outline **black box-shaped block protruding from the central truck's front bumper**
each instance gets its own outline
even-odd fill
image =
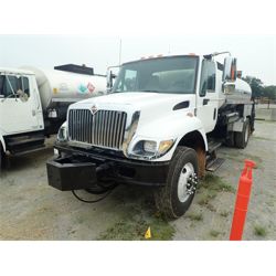
[[[61,191],[83,190],[97,182],[96,164],[57,158],[46,162],[49,184]]]

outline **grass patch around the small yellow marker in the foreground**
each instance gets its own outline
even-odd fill
[[[150,226],[151,238],[156,241],[172,240],[174,229],[161,217],[137,219],[136,216],[116,222],[99,235],[105,241],[142,241]]]

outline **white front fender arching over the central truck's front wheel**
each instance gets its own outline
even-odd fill
[[[185,113],[183,116],[173,114],[172,116],[162,117],[161,119],[149,121],[141,127],[138,126],[136,135],[129,145],[132,148],[140,139],[149,140],[167,140],[174,139],[173,147],[162,157],[151,159],[151,161],[169,161],[171,160],[176,148],[180,140],[192,131],[199,131],[208,150],[208,140],[201,120],[195,116],[189,116]]]

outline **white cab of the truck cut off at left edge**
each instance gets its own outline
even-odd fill
[[[33,147],[41,146],[44,141],[43,129],[42,106],[34,74],[24,70],[0,68],[1,152],[22,152],[24,149],[19,145],[30,134],[32,140],[28,142],[33,144]]]

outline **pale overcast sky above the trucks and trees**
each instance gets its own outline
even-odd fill
[[[33,65],[51,68],[66,63],[93,66],[105,74],[108,65],[157,54],[206,54],[230,51],[243,75],[276,85],[276,36],[273,35],[0,35],[0,66]]]

